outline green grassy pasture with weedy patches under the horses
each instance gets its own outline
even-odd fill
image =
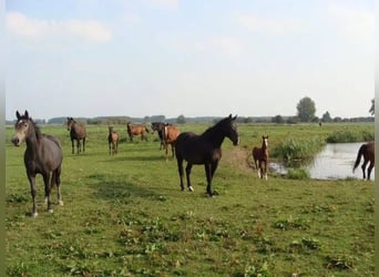
[[[165,162],[156,134],[131,143],[126,127],[114,126],[122,142],[110,156],[107,127],[89,126],[85,153],[76,155],[63,126],[41,129],[63,145],[64,206],[47,213],[38,176],[39,216],[27,216],[25,145],[12,146],[7,127],[8,276],[373,276],[373,182],[273,173],[266,182],[249,166],[264,134],[274,151],[289,138],[373,133],[373,124],[239,124],[240,145],[223,144],[213,198],[203,166],[193,167],[195,192],[181,192],[176,162]]]

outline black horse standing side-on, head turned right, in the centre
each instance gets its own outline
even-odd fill
[[[190,175],[191,168],[194,164],[204,164],[205,175],[207,181],[206,194],[213,196],[212,192],[212,178],[217,168],[218,162],[222,157],[221,145],[225,137],[228,137],[234,145],[239,143],[239,136],[237,133],[237,126],[235,124],[235,117],[232,114],[214,126],[208,127],[203,134],[197,135],[192,132],[181,133],[175,141],[175,155],[177,161],[177,170],[181,178],[181,188],[184,191],[183,185],[183,161],[187,161],[185,167],[187,187],[193,192],[191,185]]]

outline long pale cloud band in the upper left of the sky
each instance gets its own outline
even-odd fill
[[[111,31],[96,20],[44,20],[28,18],[21,12],[8,12],[6,20],[8,32],[13,35],[69,35],[80,37],[93,42],[106,42],[112,38]]]

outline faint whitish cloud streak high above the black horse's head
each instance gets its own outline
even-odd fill
[[[300,29],[300,22],[295,19],[274,19],[257,14],[237,14],[237,22],[250,31],[270,34],[285,34]]]

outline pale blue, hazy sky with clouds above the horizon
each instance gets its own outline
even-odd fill
[[[6,117],[369,116],[373,1],[6,1]]]

